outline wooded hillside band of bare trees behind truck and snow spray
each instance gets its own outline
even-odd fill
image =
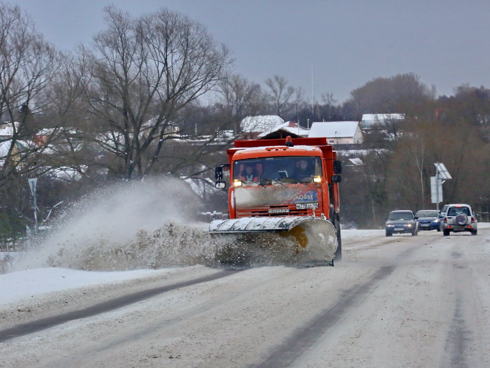
[[[395,206],[430,206],[433,163],[453,175],[445,201],[490,203],[490,93],[458,86],[436,97],[411,73],[375,78],[342,103],[325,91],[309,100],[282,76],[263,83],[232,72],[226,45],[165,8],[135,17],[113,6],[105,28],[72,53],[57,50],[18,6],[0,3],[0,242],[32,226],[27,179],[38,177],[41,222],[113,180],[173,175],[202,180],[210,203],[213,167],[247,116],[276,114],[307,127],[405,114],[365,135],[360,167],[346,167],[343,222],[379,226]],[[348,159],[346,154],[344,159]],[[60,204],[61,203],[61,204]],[[487,208],[487,207],[486,207]]]

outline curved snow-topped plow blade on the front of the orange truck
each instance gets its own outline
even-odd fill
[[[332,264],[337,249],[335,227],[321,217],[246,217],[214,220],[209,234],[223,241],[217,258],[240,262],[257,252],[273,251],[276,259],[297,264]],[[238,258],[238,259],[235,259]]]

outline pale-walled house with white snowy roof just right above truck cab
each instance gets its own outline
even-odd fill
[[[328,144],[362,143],[362,131],[355,121],[314,122],[308,137],[326,137]]]

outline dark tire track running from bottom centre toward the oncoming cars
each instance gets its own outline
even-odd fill
[[[420,245],[410,247],[402,251],[397,258],[407,258],[419,247]],[[249,367],[284,368],[291,366],[295,360],[308,348],[313,346],[316,341],[328,331],[328,329],[333,327],[357,301],[371,292],[371,290],[379,282],[387,278],[395,268],[395,266],[380,267],[369,280],[354,285],[344,291],[333,306],[318,314],[303,328],[296,330],[261,363],[250,365]]]

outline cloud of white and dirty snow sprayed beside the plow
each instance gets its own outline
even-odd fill
[[[199,199],[181,180],[153,178],[92,193],[64,214],[12,270],[121,270],[200,262],[207,226],[191,224]]]

